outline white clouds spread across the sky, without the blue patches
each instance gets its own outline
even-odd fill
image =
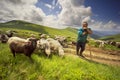
[[[105,24],[91,19],[91,7],[85,7],[84,0],[53,0],[52,5],[45,4],[50,9],[58,6],[61,9],[56,11],[58,15],[45,15],[41,8],[35,6],[37,2],[38,0],[0,0],[0,22],[25,20],[54,28],[65,28],[78,27],[82,21],[88,21],[92,29],[119,29],[118,24],[113,21]]]

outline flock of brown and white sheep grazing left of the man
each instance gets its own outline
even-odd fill
[[[9,34],[9,35],[8,35]],[[7,43],[11,50],[11,53],[15,57],[15,54],[23,53],[24,55],[31,58],[31,54],[36,51],[41,51],[48,57],[52,53],[58,53],[59,56],[64,56],[64,42],[66,41],[63,37],[46,38],[46,34],[41,34],[40,39],[35,38],[34,35],[24,39],[13,36],[13,31],[9,31],[6,34],[0,34],[0,41]]]

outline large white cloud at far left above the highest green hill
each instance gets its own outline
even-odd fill
[[[45,14],[40,8],[35,6],[35,3],[37,3],[37,0],[1,0],[1,22],[17,19],[42,23]]]

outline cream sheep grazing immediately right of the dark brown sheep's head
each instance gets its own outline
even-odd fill
[[[51,54],[50,52],[50,44],[49,42],[41,38],[40,40],[37,41],[37,50],[41,50],[43,53],[45,53],[48,57]]]

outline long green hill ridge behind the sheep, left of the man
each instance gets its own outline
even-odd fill
[[[55,28],[32,24],[32,23],[20,21],[20,20],[13,20],[6,23],[0,23],[0,29],[1,30],[8,30],[8,29],[29,30],[37,33],[45,33],[49,35],[61,35],[61,36],[72,37],[72,38],[76,38],[76,32],[77,32],[75,29],[72,29],[72,28],[55,29]]]

